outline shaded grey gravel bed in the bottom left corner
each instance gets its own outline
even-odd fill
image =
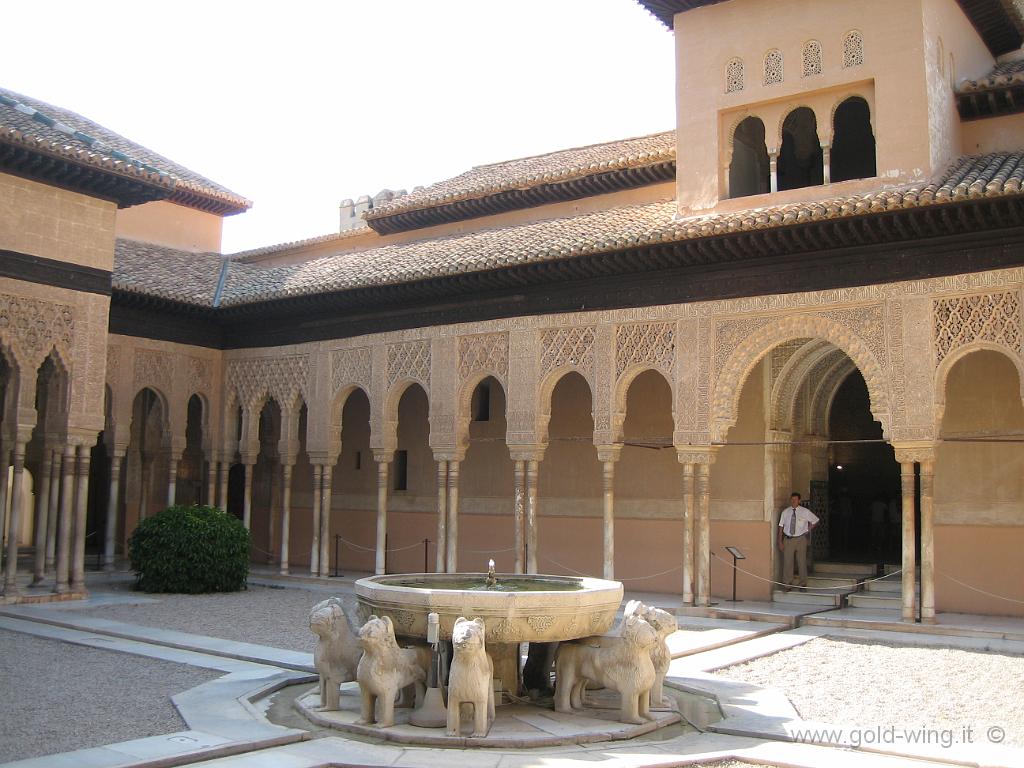
[[[171,696],[218,676],[0,630],[0,763],[184,730]]]

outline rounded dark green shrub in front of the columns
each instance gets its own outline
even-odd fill
[[[169,507],[147,517],[128,553],[144,592],[236,592],[249,577],[249,531],[214,507]]]

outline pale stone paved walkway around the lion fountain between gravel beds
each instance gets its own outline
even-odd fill
[[[255,573],[254,583],[275,586],[296,584],[295,579],[274,579]],[[347,582],[347,583],[346,583]],[[91,580],[90,603],[135,599],[104,595],[102,578]],[[351,580],[303,580],[303,587],[333,594],[351,590]],[[634,595],[630,595],[634,597]],[[672,607],[672,596],[652,600]],[[972,617],[949,626],[966,633]],[[239,643],[152,627],[139,627],[78,614],[69,604],[22,605],[0,608],[0,628],[108,650],[193,665],[224,673],[215,681],[173,697],[189,730],[145,739],[109,744],[94,750],[46,756],[7,764],[18,768],[155,768],[185,763],[217,768],[287,766],[313,768],[325,764],[362,766],[415,766],[429,768],[641,768],[684,765],[716,760],[740,760],[767,765],[889,768],[890,766],[1024,765],[1024,751],[991,749],[970,754],[956,750],[903,750],[881,754],[866,748],[851,749],[842,738],[822,736],[825,743],[804,743],[808,728],[826,733],[828,724],[800,720],[780,692],[710,675],[711,670],[738,664],[809,642],[815,637],[858,637],[908,642],[916,645],[953,645],[1024,652],[1024,638],[1016,628],[998,620],[978,617],[982,631],[967,634],[923,634],[813,626],[787,630],[786,623],[716,620],[680,615],[681,631],[670,640],[674,660],[669,685],[717,701],[702,705],[705,712],[684,715],[705,729],[685,729],[671,737],[641,737],[626,742],[566,744],[529,751],[438,750],[393,743],[368,742],[343,735],[323,734],[271,723],[254,701],[285,686],[311,682],[311,654],[250,643]],[[1001,636],[995,637],[996,634]],[[701,705],[695,705],[700,709]],[[837,749],[840,748],[840,749]]]

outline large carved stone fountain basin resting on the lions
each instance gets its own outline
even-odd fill
[[[589,577],[486,573],[396,573],[355,583],[366,614],[390,616],[397,635],[427,636],[427,614],[440,616],[441,639],[452,638],[459,616],[479,616],[486,642],[559,642],[611,629],[623,601],[621,582]]]

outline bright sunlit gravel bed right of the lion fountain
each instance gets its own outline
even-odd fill
[[[1021,655],[818,638],[715,674],[777,688],[808,720],[936,729],[933,743],[987,743],[994,727],[1024,746]]]

